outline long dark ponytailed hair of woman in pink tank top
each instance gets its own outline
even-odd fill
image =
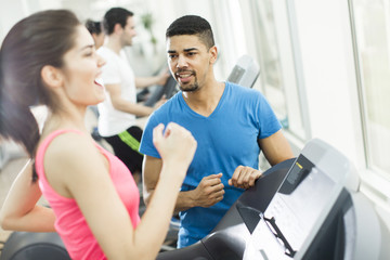
[[[42,82],[41,69],[46,65],[63,66],[79,24],[67,10],[38,12],[15,24],[1,46],[0,135],[21,143],[31,158],[40,138],[31,106],[42,104],[56,109],[55,100]]]

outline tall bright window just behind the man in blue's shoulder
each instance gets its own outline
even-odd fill
[[[251,35],[259,49],[262,92],[283,127],[306,141],[311,134],[294,4],[251,0],[249,10],[256,21]]]

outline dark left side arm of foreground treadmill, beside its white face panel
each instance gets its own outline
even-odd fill
[[[256,185],[243,193],[218,225],[202,240],[158,255],[158,260],[243,259],[246,240],[276,193],[294,159],[266,170]],[[244,222],[245,219],[246,221]]]

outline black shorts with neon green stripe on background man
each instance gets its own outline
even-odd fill
[[[131,173],[142,171],[143,154],[139,152],[141,136],[142,129],[133,126],[117,135],[104,138]]]

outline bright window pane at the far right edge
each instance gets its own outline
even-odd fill
[[[351,0],[350,9],[367,166],[390,180],[390,1]]]

